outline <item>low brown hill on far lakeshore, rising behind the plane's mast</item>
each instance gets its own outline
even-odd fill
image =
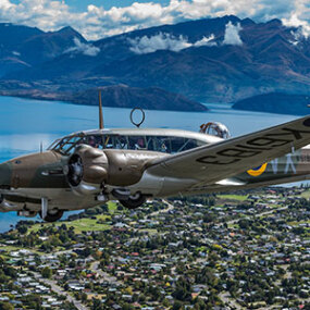
[[[22,86],[20,86],[22,88]],[[186,97],[157,87],[138,88],[125,85],[100,87],[102,104],[114,108],[141,108],[147,110],[207,111],[207,107]],[[66,101],[76,104],[98,106],[98,88],[82,91],[52,92],[33,87],[0,90],[2,96],[41,100]]]

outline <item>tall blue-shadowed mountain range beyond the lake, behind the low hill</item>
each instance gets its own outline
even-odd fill
[[[71,27],[44,33],[0,24],[0,47],[2,95],[46,94],[45,99],[70,101],[80,91],[103,86],[123,91],[125,85],[127,94],[149,88],[181,94],[190,102],[235,102],[310,92],[310,40],[278,20],[256,23],[230,15],[97,41]]]

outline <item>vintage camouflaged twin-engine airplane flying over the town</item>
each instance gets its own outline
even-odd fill
[[[201,126],[200,133],[103,129],[102,124],[100,107],[100,129],[71,134],[47,151],[1,163],[0,211],[39,213],[53,222],[64,211],[110,199],[133,209],[148,198],[252,188],[310,176],[310,150],[302,148],[310,142],[310,116],[228,139],[225,127],[216,123]]]

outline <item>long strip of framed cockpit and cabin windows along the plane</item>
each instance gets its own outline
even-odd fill
[[[131,149],[178,153],[199,147],[206,142],[173,136],[76,135],[57,140],[49,149],[69,156],[74,151],[76,146],[82,144],[99,149]]]

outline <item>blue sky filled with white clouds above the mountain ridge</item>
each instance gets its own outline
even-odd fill
[[[309,0],[0,0],[0,22],[58,30],[72,26],[97,40],[134,29],[234,14],[280,18],[310,35]]]

